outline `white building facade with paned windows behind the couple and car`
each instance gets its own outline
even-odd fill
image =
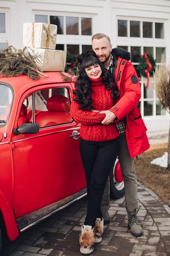
[[[152,54],[159,65],[170,59],[170,0],[0,0],[0,49],[7,43],[22,48],[24,22],[56,24],[56,49],[73,55],[91,49],[93,34],[104,33],[113,47],[131,53],[137,68],[139,57]],[[169,129],[170,115],[162,109],[153,90],[153,79],[140,76],[138,108],[148,131]]]

